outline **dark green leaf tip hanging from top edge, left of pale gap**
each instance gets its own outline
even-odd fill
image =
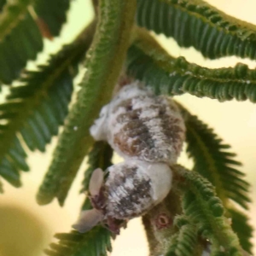
[[[67,10],[71,0],[37,0],[35,11],[48,27],[50,35],[58,36],[62,25],[67,21]]]

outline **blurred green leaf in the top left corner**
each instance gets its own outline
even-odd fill
[[[27,10],[32,0],[10,1],[0,17],[0,80],[9,84],[43,49],[37,24]]]

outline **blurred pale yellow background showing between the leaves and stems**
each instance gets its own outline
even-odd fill
[[[149,1],[149,0],[148,0]],[[255,0],[209,0],[224,12],[234,15],[241,20],[256,24]],[[44,53],[38,55],[37,63],[47,60],[50,53],[61,48],[62,44],[70,42],[92,18],[92,8],[89,0],[75,0],[68,15],[68,24],[64,26],[61,37],[54,42],[45,41]],[[184,55],[188,61],[206,67],[230,67],[237,61],[247,63],[255,68],[256,62],[239,60],[236,57],[223,58],[218,61],[206,61],[194,49],[180,49],[172,39],[158,37],[164,47],[172,55]],[[35,68],[30,62],[28,68]],[[81,76],[77,79],[79,82]],[[250,102],[224,102],[199,99],[195,96],[178,96],[192,113],[201,117],[211,125],[226,143],[230,143],[238,159],[244,163],[241,170],[247,172],[247,180],[253,184],[252,197],[256,195],[256,105]],[[29,163],[32,171],[23,173],[23,187],[14,189],[4,183],[5,193],[0,201],[0,256],[43,256],[43,249],[49,242],[54,241],[55,232],[70,230],[79,215],[79,208],[84,200],[79,195],[80,183],[83,178],[85,164],[81,166],[78,177],[68,195],[65,207],[58,206],[56,201],[52,204],[39,207],[35,201],[38,186],[49,166],[51,154],[55,148],[55,139],[48,146],[47,154],[30,154]],[[115,161],[120,161],[115,157]],[[179,160],[184,166],[191,166],[191,162],[184,154]],[[252,224],[256,225],[256,206],[253,201],[250,215]],[[255,239],[254,239],[255,243]],[[256,255],[256,251],[254,250]],[[148,255],[147,241],[143,234],[143,226],[139,218],[128,224],[128,229],[122,230],[113,245],[113,256],[146,256]]]

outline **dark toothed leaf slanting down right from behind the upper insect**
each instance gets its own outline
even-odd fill
[[[243,179],[245,174],[237,170],[241,163],[235,159],[236,154],[195,115],[184,108],[182,111],[187,128],[187,152],[195,163],[193,170],[215,186],[224,205],[231,199],[247,209],[249,183]]]

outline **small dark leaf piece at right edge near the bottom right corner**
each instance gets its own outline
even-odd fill
[[[253,237],[253,228],[248,224],[247,216],[235,208],[228,209],[228,216],[231,218],[232,229],[238,236],[241,247],[248,253],[252,253],[253,243],[250,239]]]

